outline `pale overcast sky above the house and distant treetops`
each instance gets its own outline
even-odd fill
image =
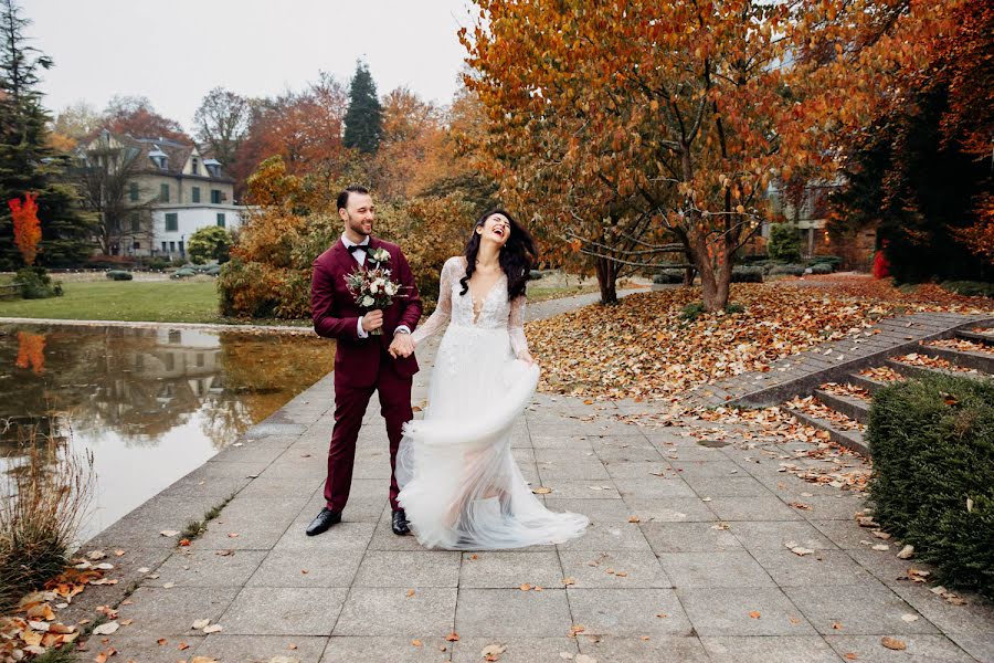
[[[147,96],[192,128],[203,95],[300,90],[326,71],[348,83],[363,57],[382,95],[406,85],[448,103],[465,50],[468,0],[21,0],[53,113],[115,94]]]

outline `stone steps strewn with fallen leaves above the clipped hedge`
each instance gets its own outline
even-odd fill
[[[796,396],[785,407],[802,422],[827,431],[834,442],[869,455],[864,431],[874,392],[889,382],[934,373],[994,379],[994,320],[901,347],[870,366]]]

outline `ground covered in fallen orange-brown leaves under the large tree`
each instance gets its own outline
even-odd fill
[[[748,371],[812,346],[873,333],[875,322],[917,312],[987,313],[994,301],[938,286],[913,292],[853,276],[835,282],[737,284],[743,313],[685,319],[699,288],[638,293],[617,306],[593,305],[529,323],[542,366],[540,389],[604,399],[668,399],[687,389]]]

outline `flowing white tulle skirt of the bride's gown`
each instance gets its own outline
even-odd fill
[[[399,502],[429,548],[559,544],[586,516],[550,512],[511,455],[511,429],[539,369],[514,358],[506,329],[450,325],[438,347],[424,419],[404,427]]]

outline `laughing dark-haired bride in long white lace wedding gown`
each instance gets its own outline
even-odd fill
[[[413,334],[421,344],[448,325],[424,419],[404,427],[396,456],[398,501],[425,547],[559,544],[589,524],[586,516],[547,509],[511,455],[511,429],[539,377],[524,328],[535,253],[507,212],[484,214],[466,256],[442,267],[438,305]]]

